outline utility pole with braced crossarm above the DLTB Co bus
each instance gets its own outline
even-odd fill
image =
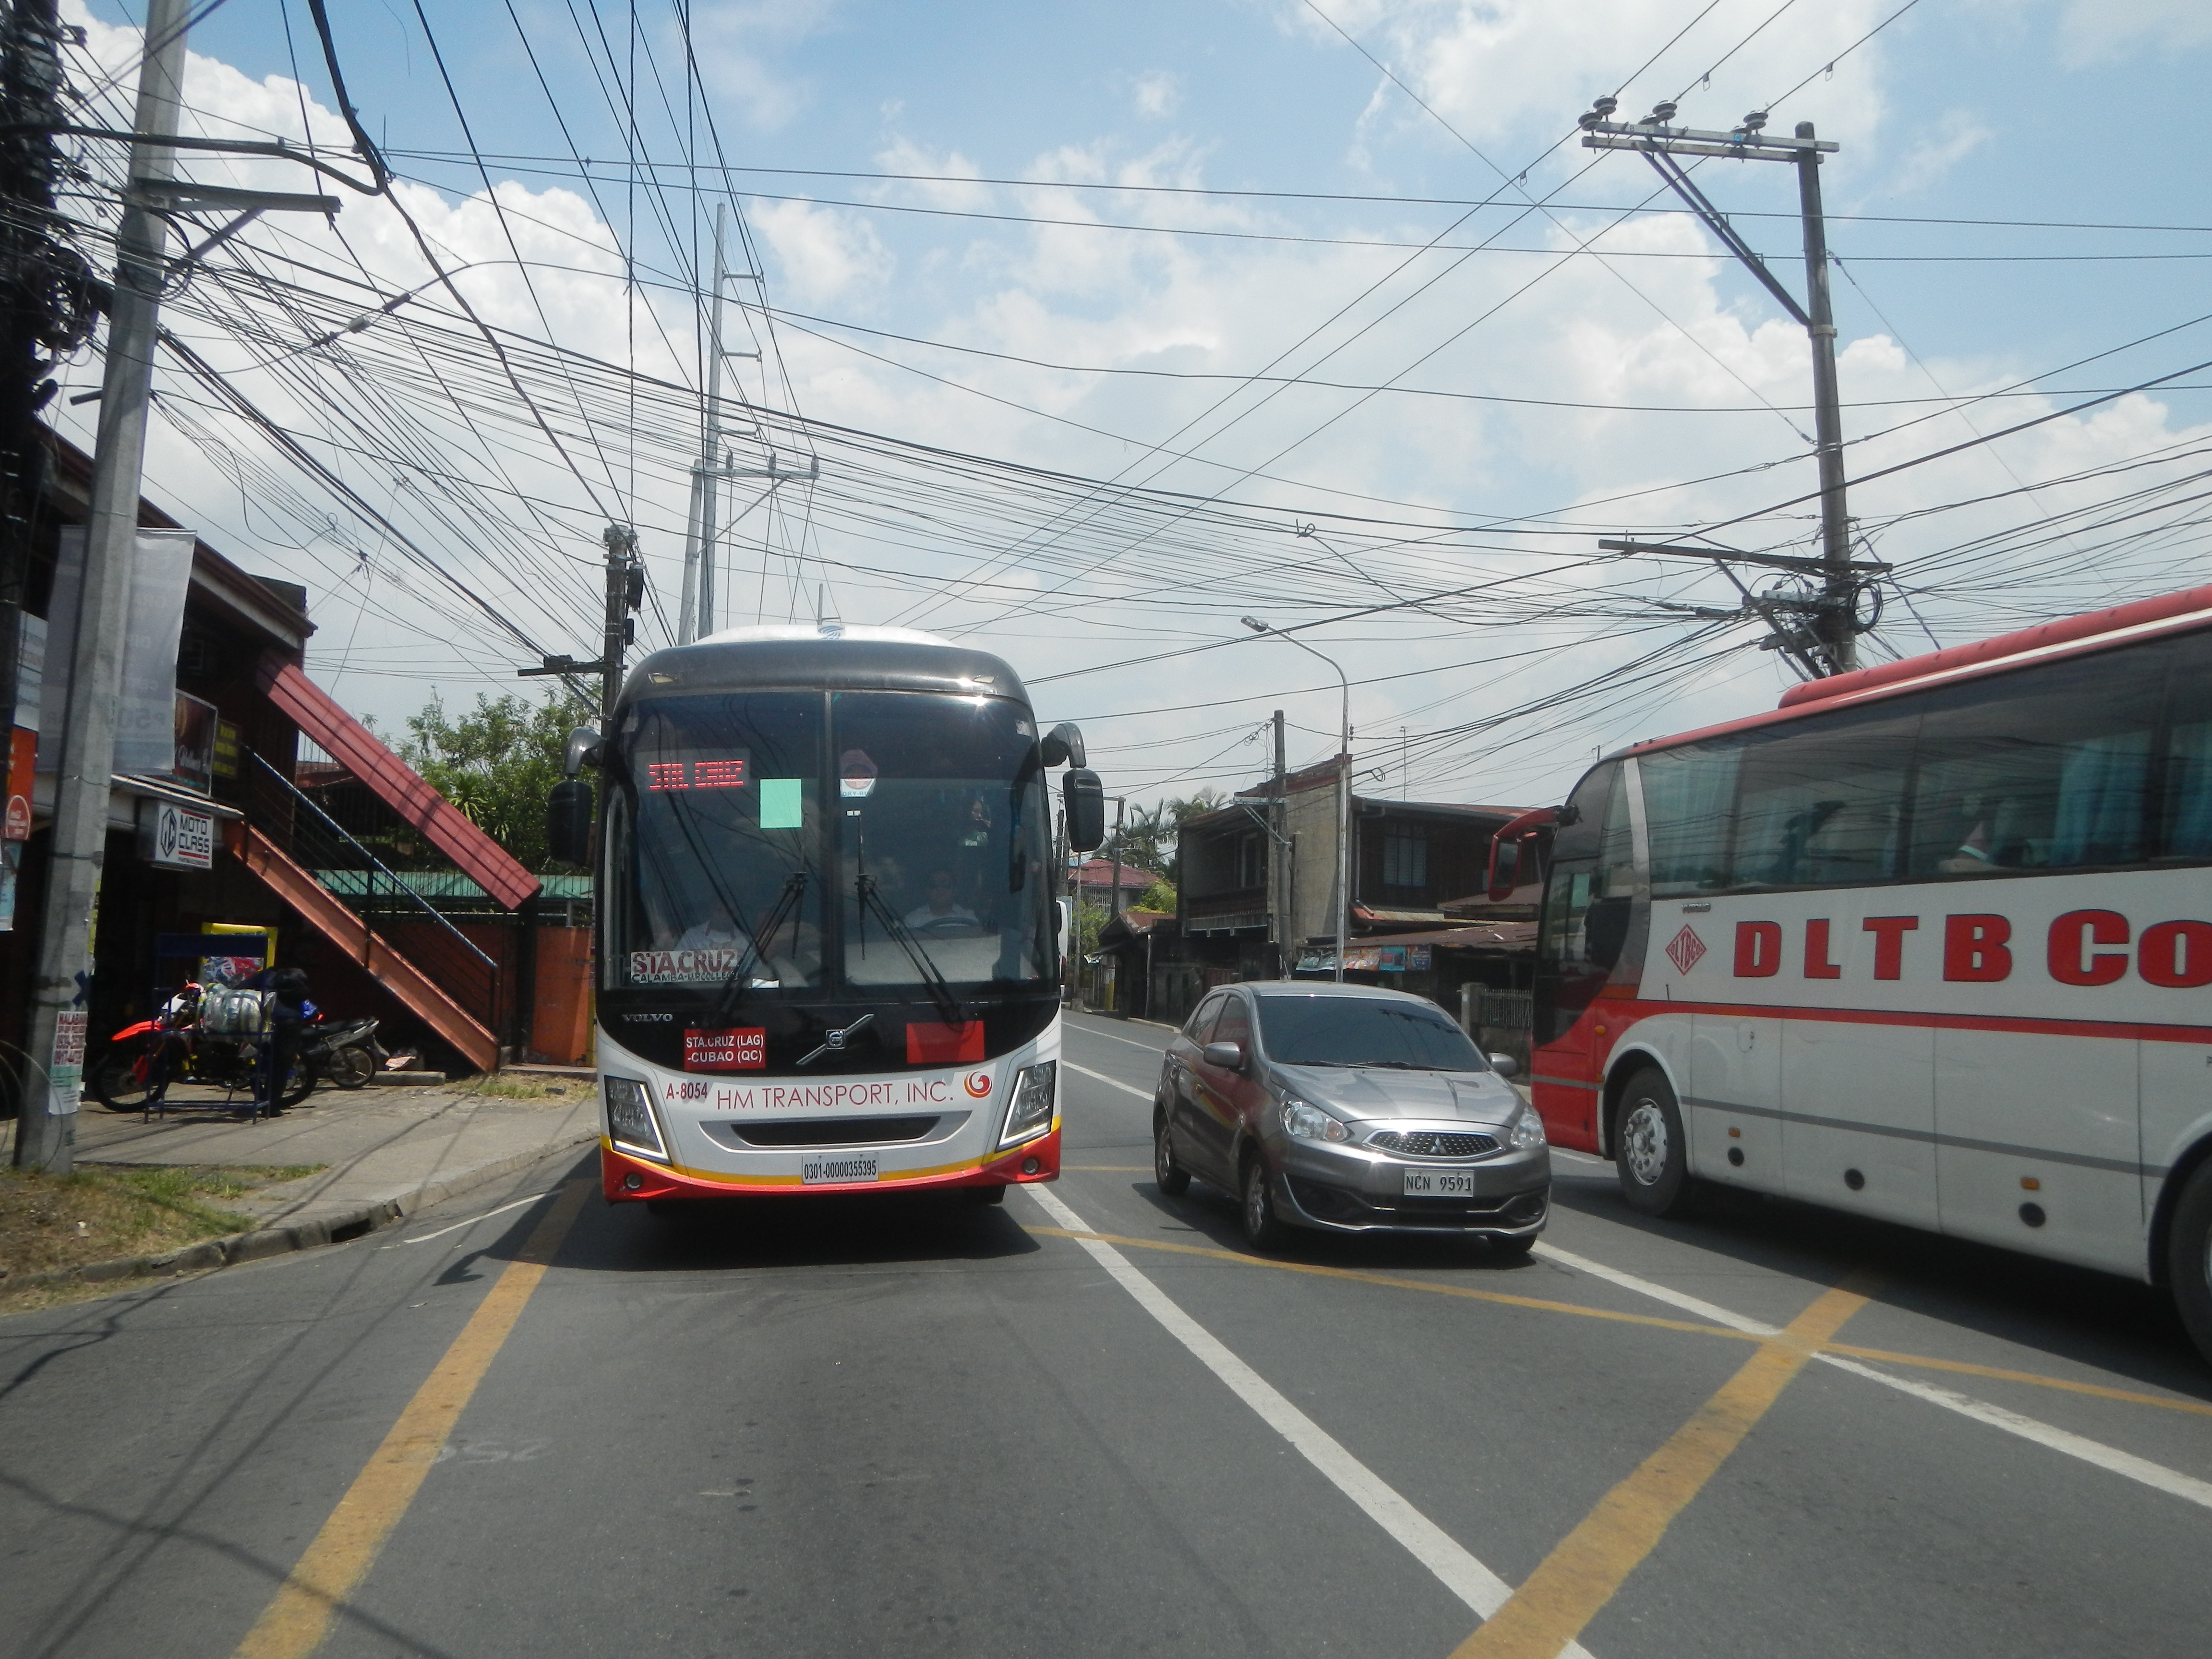
[[[1586,150],[1637,150],[1666,179],[1721,246],[1728,248],[1759,283],[1774,294],[1812,341],[1814,447],[1820,462],[1820,606],[1814,637],[1820,666],[1832,675],[1858,666],[1858,628],[1854,624],[1858,577],[1851,571],[1851,518],[1845,507],[1843,478],[1843,409],[1836,389],[1836,319],[1827,292],[1827,228],[1820,217],[1820,157],[1836,146],[1814,137],[1812,122],[1798,122],[1794,137],[1765,133],[1767,113],[1752,111],[1728,133],[1694,126],[1670,126],[1674,104],[1661,102],[1641,122],[1615,122],[1613,97],[1599,97],[1582,117]],[[1787,161],[1798,170],[1798,212],[1805,221],[1805,305],[1767,270],[1767,261],[1736,232],[1705,192],[1697,188],[1677,155],[1714,155],[1736,161]]]

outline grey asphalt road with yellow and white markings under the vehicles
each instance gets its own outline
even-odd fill
[[[1575,1155],[1533,1261],[1261,1263],[1152,1190],[1164,1035],[1071,1020],[1004,1210],[672,1228],[562,1161],[0,1321],[4,1648],[2203,1652],[2212,1374],[2150,1290],[1644,1223]]]

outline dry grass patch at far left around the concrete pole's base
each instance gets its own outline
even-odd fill
[[[248,1232],[254,1219],[226,1210],[226,1201],[319,1168],[325,1166],[86,1166],[73,1175],[0,1170],[0,1290],[29,1274]]]

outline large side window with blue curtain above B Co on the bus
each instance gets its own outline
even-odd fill
[[[1907,874],[2141,863],[2161,666],[2084,657],[1922,699]]]

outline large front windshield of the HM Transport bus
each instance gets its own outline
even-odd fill
[[[905,1000],[1053,973],[1044,768],[1020,703],[661,697],[624,719],[622,759],[608,987]]]

